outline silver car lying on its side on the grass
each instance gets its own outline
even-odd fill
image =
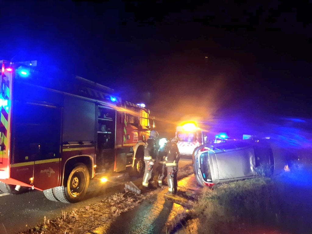
[[[204,144],[193,152],[193,169],[197,183],[217,183],[273,174],[273,151],[266,140],[228,140]]]

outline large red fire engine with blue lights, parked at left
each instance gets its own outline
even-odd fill
[[[95,172],[143,173],[149,110],[36,63],[0,61],[0,190],[78,202]]]

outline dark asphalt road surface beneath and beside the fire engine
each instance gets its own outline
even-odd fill
[[[190,159],[181,159],[179,166],[183,167],[190,163],[192,163]],[[99,180],[93,179],[90,181],[85,200],[75,204],[50,201],[42,192],[36,190],[20,195],[0,193],[0,234],[25,231],[42,223],[45,216],[47,219],[52,219],[60,216],[62,211],[70,212],[74,208],[101,201],[105,196],[124,191],[124,183],[131,180],[138,185],[142,178],[133,180],[125,173],[115,182],[105,184],[100,184]]]

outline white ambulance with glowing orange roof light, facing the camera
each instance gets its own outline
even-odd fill
[[[185,122],[176,127],[175,137],[178,138],[180,155],[192,155],[194,149],[204,143],[202,130],[195,122]]]

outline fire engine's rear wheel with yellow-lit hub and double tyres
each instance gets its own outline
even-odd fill
[[[89,187],[90,175],[85,164],[79,163],[68,175],[65,186],[52,188],[56,199],[60,202],[75,203],[85,196]]]

